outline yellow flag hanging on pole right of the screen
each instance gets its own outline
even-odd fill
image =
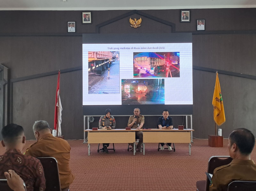
[[[216,82],[213,93],[213,118],[218,126],[221,126],[226,121],[218,72],[216,72]]]

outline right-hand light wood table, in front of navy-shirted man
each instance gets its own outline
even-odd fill
[[[145,155],[145,143],[188,143],[188,152],[191,155],[191,133],[193,129],[140,129],[143,131],[143,155]]]

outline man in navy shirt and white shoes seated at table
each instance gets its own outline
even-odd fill
[[[162,126],[162,129],[173,128],[172,118],[169,117],[169,112],[167,109],[163,110],[163,116],[158,118],[157,128],[159,128],[159,126]],[[164,150],[164,143],[160,143],[160,144],[161,144],[161,150]],[[166,146],[168,146],[168,150],[171,151],[171,143],[167,143]]]

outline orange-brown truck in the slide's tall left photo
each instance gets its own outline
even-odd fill
[[[88,63],[91,71],[98,67],[101,67],[102,71],[105,71],[106,68],[109,68],[111,61],[112,52],[110,51],[88,52]]]

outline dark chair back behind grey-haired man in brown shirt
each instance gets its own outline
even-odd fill
[[[53,157],[39,157],[45,177],[45,191],[61,191],[58,162]]]

